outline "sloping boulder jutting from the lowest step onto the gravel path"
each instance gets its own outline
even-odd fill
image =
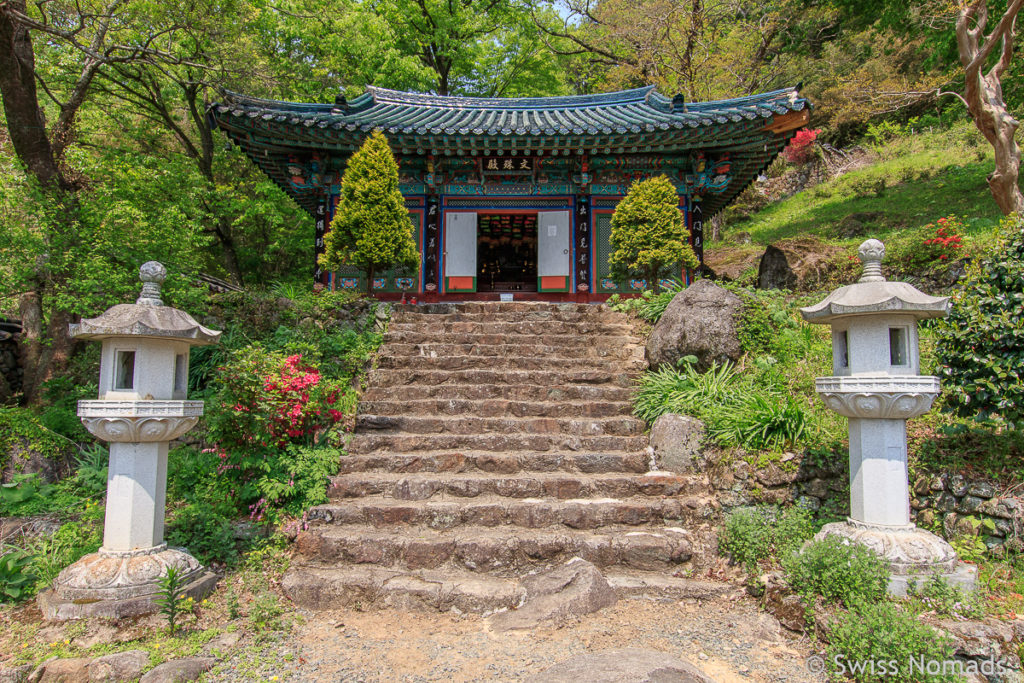
[[[596,566],[572,558],[550,571],[527,577],[523,604],[490,617],[495,631],[532,629],[544,622],[558,624],[573,616],[596,612],[618,599]]]

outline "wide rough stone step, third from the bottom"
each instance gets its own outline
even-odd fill
[[[469,500],[396,501],[381,496],[317,505],[308,518],[323,524],[373,527],[423,525],[432,529],[457,526],[522,526],[597,529],[603,526],[683,525],[709,519],[718,507],[698,496],[584,499],[508,499],[483,495]]]

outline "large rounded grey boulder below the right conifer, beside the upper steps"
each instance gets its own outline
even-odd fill
[[[709,280],[698,280],[673,298],[647,340],[651,367],[673,366],[696,356],[703,372],[712,362],[738,360],[738,321],[742,300]]]

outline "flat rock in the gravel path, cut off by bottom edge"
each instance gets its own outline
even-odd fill
[[[556,664],[532,683],[713,683],[696,667],[668,652],[626,648],[581,654]]]

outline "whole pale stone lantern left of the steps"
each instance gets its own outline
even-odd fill
[[[39,595],[50,620],[121,618],[157,609],[158,581],[177,567],[185,595],[201,597],[216,575],[182,549],[164,543],[168,443],[196,426],[203,401],[186,400],[188,349],[214,344],[184,311],[165,306],[160,286],[167,270],[156,261],[139,268],[142,292],[98,317],[71,326],[71,335],[102,343],[99,398],[81,400],[78,415],[94,436],[110,442],[103,545]]]

